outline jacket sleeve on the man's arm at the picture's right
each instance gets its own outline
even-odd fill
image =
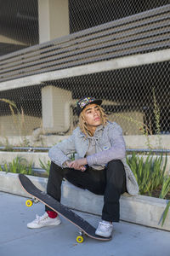
[[[109,127],[108,137],[111,148],[97,154],[88,155],[88,166],[105,165],[111,160],[122,160],[126,155],[126,146],[122,137],[121,126],[113,123]]]

